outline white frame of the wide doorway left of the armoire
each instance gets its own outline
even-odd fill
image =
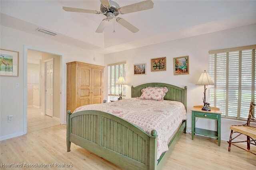
[[[28,91],[28,87],[27,87],[27,82],[28,82],[28,50],[34,50],[34,51],[40,51],[43,53],[49,53],[49,54],[53,54],[53,55],[58,55],[60,56],[60,123],[61,124],[66,124],[65,121],[65,115],[66,114],[61,114],[61,113],[66,113],[65,109],[62,109],[62,104],[65,103],[64,101],[64,97],[65,97],[65,89],[62,83],[62,68],[63,68],[63,55],[58,53],[58,51],[52,51],[52,50],[47,50],[47,49],[41,49],[38,47],[30,47],[27,45],[24,45],[24,54],[23,54],[23,58],[24,58],[24,123],[23,123],[23,134],[25,135],[27,133],[27,91]],[[62,93],[64,92],[64,94]],[[63,112],[64,111],[64,112]]]

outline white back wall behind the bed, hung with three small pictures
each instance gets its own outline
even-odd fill
[[[185,39],[178,39],[166,43],[140,47],[118,53],[105,55],[105,66],[111,63],[126,61],[126,95],[130,98],[130,86],[137,86],[149,82],[162,82],[174,84],[187,91],[187,113],[188,131],[191,131],[191,111],[195,105],[202,105],[203,86],[196,86],[201,72],[208,70],[208,51],[214,49],[224,49],[229,47],[239,47],[244,45],[256,44],[256,24],[208,33]],[[174,76],[173,58],[189,56],[190,74]],[[150,59],[166,57],[167,70],[160,72],[150,71]],[[147,63],[146,75],[134,76],[133,64]],[[107,87],[107,72],[104,74],[104,86]],[[107,89],[104,91],[104,99],[107,99]],[[222,118],[222,140],[228,140],[230,135],[229,126],[242,124],[244,121],[232,121]],[[215,130],[216,121],[198,119],[196,127]]]

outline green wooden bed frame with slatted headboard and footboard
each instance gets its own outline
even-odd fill
[[[132,86],[132,98],[140,97],[143,88],[167,87],[164,100],[182,102],[186,107],[186,91],[164,83]],[[125,169],[161,169],[182,132],[186,133],[186,120],[169,143],[169,150],[157,160],[157,132],[151,135],[132,123],[102,111],[67,111],[67,151],[71,142]]]

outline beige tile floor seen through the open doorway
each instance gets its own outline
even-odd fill
[[[27,133],[60,125],[60,122],[48,115],[41,114],[41,109],[28,107]]]

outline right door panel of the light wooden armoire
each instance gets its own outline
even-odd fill
[[[103,70],[99,68],[92,68],[92,103],[100,104],[103,103],[102,91],[103,91]]]

